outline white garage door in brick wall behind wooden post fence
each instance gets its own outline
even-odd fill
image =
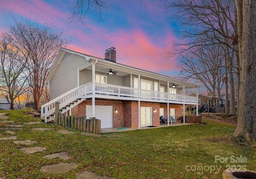
[[[86,118],[92,117],[92,105],[86,105]],[[101,128],[112,128],[112,106],[96,105],[95,117],[101,120]]]

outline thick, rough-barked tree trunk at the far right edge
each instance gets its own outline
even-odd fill
[[[240,57],[239,115],[234,135],[256,141],[256,83],[253,82],[256,76],[256,1],[236,0],[236,10],[238,39],[241,38],[242,41],[240,41],[241,45],[238,44]]]

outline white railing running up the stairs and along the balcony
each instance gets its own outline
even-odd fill
[[[52,101],[41,106],[41,119],[44,118],[47,122],[47,117],[55,112],[55,103],[59,102],[59,108],[63,108],[76,99],[92,97],[93,93],[93,83],[84,84],[78,86],[73,90],[70,90],[63,95],[53,99]],[[172,93],[163,93],[159,91],[149,91],[141,90],[136,88],[129,88],[124,86],[116,86],[110,84],[101,84],[95,83],[95,95],[96,97],[104,96],[104,98],[111,99],[128,99],[132,100],[146,100],[146,101],[158,101],[158,102],[167,102],[170,103],[186,103],[186,104],[196,104],[197,98],[193,96],[172,94]],[[131,100],[131,99],[130,99]]]

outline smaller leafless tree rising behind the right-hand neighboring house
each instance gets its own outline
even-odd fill
[[[220,96],[223,83],[223,50],[218,43],[197,45],[178,58],[177,68],[182,80],[199,80],[211,96]]]

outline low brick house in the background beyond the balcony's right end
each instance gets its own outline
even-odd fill
[[[203,112],[208,112],[208,105],[210,113],[225,113],[225,99],[198,94],[198,109],[201,108]]]

